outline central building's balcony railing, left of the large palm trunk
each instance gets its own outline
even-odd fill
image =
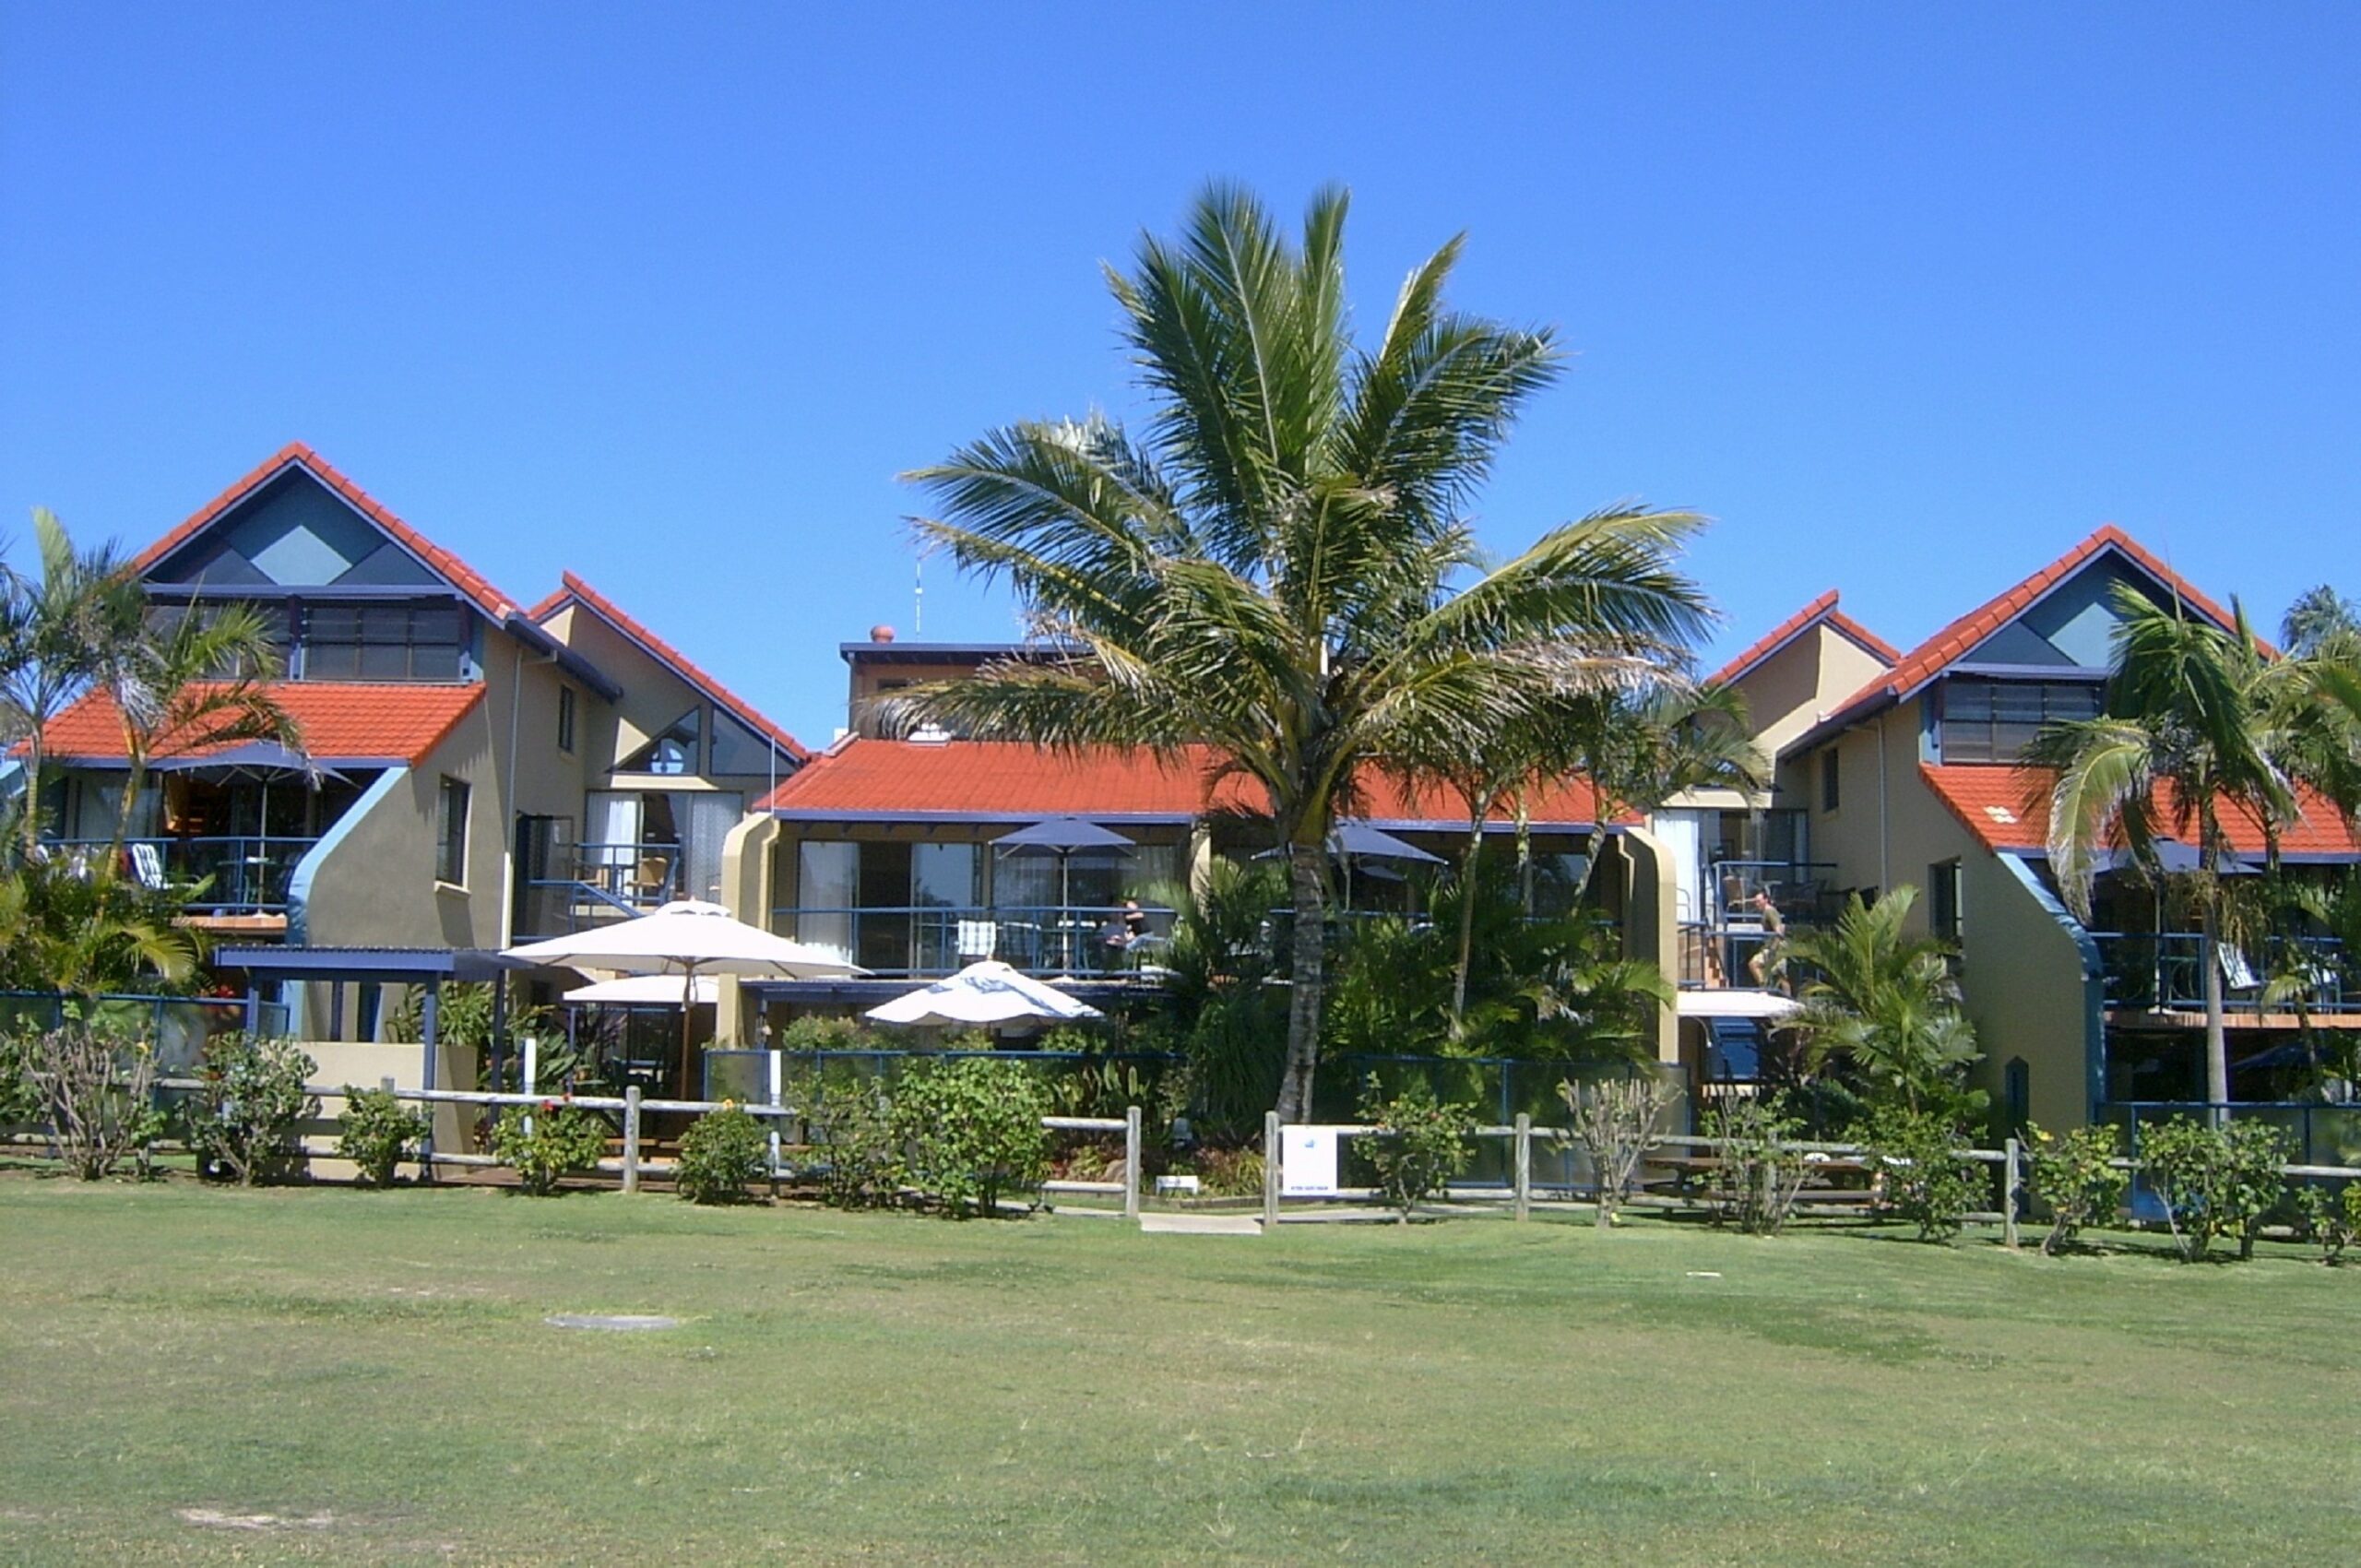
[[[1121,904],[862,904],[781,907],[770,928],[885,978],[940,978],[980,959],[1027,975],[1124,978],[1157,961],[1173,912],[1140,909],[1133,935]]]

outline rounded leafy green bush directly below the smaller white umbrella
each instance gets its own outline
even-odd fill
[[[902,1176],[954,1216],[992,1214],[1006,1190],[1041,1183],[1048,1167],[1048,1096],[1022,1063],[966,1058],[902,1074],[892,1141]]]

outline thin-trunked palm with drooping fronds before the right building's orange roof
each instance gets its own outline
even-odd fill
[[[2106,704],[2097,718],[2042,727],[2026,760],[2056,770],[2049,791],[2049,867],[2066,907],[2089,919],[2097,855],[2123,843],[2151,878],[2163,876],[2158,838],[2191,843],[2198,871],[2198,968],[2205,985],[2205,1098],[2229,1100],[2222,1008],[2222,862],[2229,822],[2250,817],[2276,834],[2295,815],[2295,791],[2274,758],[2267,723],[2267,659],[2243,619],[2236,635],[2156,605],[2127,583],[2118,614]]]

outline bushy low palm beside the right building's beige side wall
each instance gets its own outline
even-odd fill
[[[1787,961],[1811,973],[1792,1027],[1811,1067],[1842,1058],[1875,1103],[1964,1124],[1983,1093],[1964,1089],[1976,1027],[1960,1013],[1950,947],[1903,930],[1917,888],[1875,904],[1846,900],[1834,926],[1787,937]]]

